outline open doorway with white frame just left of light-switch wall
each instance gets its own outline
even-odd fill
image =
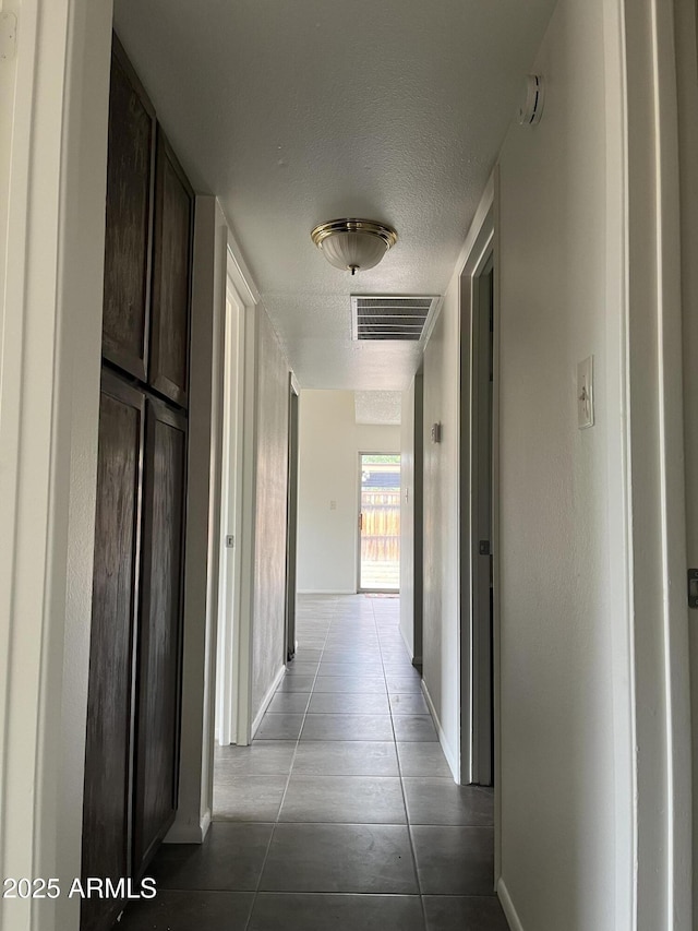
[[[460,781],[479,786],[496,786],[497,766],[495,263],[490,208],[460,291]]]

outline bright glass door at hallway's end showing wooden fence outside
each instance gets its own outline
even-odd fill
[[[400,454],[359,453],[359,592],[400,590]]]

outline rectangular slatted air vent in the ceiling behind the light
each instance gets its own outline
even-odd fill
[[[351,338],[419,342],[437,297],[351,296]]]

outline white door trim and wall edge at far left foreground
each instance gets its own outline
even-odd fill
[[[0,164],[11,194],[0,217],[0,849],[3,876],[64,888],[82,846],[111,3],[8,9],[21,16]],[[79,912],[65,895],[2,898],[0,927],[76,931]]]

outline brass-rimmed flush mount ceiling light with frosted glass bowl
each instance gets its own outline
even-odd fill
[[[310,236],[330,265],[352,275],[373,268],[397,242],[393,227],[374,219],[330,219]]]

